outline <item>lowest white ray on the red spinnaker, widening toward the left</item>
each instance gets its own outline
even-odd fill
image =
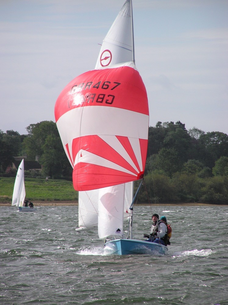
[[[76,165],[78,162],[85,162],[85,163],[99,165],[102,167],[111,168],[113,170],[120,170],[126,174],[130,174],[130,175],[137,177],[137,174],[132,173],[130,170],[127,170],[126,168],[124,168],[112,161],[109,161],[105,158],[102,158],[98,155],[95,155],[95,154],[88,152],[86,150],[83,150],[83,149],[80,149],[79,152],[77,153],[75,161],[74,161],[74,165]]]

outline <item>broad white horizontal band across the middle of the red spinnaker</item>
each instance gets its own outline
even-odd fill
[[[85,106],[64,113],[56,124],[64,146],[74,138],[87,135],[118,135],[147,140],[149,116],[115,107]]]

